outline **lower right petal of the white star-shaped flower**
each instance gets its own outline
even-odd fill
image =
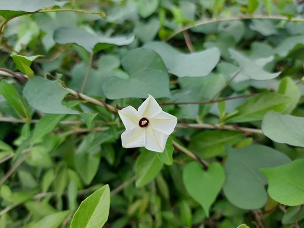
[[[145,148],[148,150],[163,152],[165,150],[166,142],[169,135],[148,127],[146,130]]]

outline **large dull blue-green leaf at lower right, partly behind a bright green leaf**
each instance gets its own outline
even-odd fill
[[[224,164],[226,174],[223,192],[226,198],[242,209],[257,209],[267,201],[264,184],[267,179],[259,170],[290,162],[279,151],[264,145],[249,145],[240,149],[227,149]]]

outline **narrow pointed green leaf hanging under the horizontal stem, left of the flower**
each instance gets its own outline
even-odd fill
[[[35,125],[32,137],[30,139],[30,146],[39,142],[43,136],[50,133],[59,122],[65,117],[65,114],[46,114]]]

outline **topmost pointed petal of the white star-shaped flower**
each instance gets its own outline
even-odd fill
[[[161,106],[157,103],[154,97],[149,94],[149,97],[139,106],[138,115],[149,119],[155,117],[161,111]]]

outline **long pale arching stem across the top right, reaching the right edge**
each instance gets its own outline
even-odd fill
[[[288,21],[301,21],[303,22],[304,19],[303,18],[292,18],[292,19],[288,19],[287,17],[284,16],[268,16],[268,15],[257,15],[257,16],[253,16],[253,15],[242,15],[242,16],[234,16],[234,17],[229,17],[229,18],[210,18],[210,19],[203,19],[200,21],[197,21],[196,23],[194,23],[193,25],[186,25],[180,29],[175,30],[172,34],[170,34],[167,39],[165,39],[165,41],[170,40],[172,37],[174,37],[175,35],[177,35],[180,32],[186,31],[190,28],[199,26],[199,25],[203,25],[203,24],[208,24],[208,23],[212,23],[212,22],[220,22],[220,21],[232,21],[232,20],[250,20],[250,19],[272,19],[272,20],[288,20]]]

